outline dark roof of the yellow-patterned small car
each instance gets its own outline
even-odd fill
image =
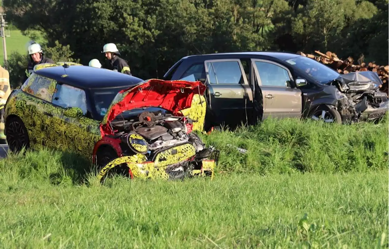
[[[135,85],[143,81],[140,78],[108,69],[78,65],[70,65],[67,68],[63,66],[50,66],[34,70],[34,73],[83,89],[115,88]]]

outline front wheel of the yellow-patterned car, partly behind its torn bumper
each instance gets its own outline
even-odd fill
[[[110,161],[112,161],[118,157],[116,151],[110,146],[99,147],[96,155],[97,155],[96,164],[97,164],[98,172],[100,172],[100,170],[107,163],[109,163]],[[101,178],[100,182],[101,183],[105,182],[105,179],[107,177],[110,177],[110,176],[115,175],[115,174],[123,175],[123,176],[127,176],[127,177],[129,177],[129,175],[130,175],[128,172],[127,166],[116,166],[114,168],[109,169],[105,173],[105,175]]]

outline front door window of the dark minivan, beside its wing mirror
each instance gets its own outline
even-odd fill
[[[276,64],[256,61],[261,85],[291,87],[288,71]]]

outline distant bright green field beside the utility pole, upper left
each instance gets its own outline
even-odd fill
[[[5,33],[8,34],[8,32],[10,32],[11,36],[5,38],[7,45],[7,56],[9,57],[14,51],[22,54],[27,53],[26,44],[28,41],[30,41],[30,38],[23,36],[20,30],[6,31]],[[0,64],[4,65],[4,50],[2,40],[0,41],[0,44]]]

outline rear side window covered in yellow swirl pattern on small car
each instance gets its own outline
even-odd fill
[[[32,73],[21,86],[21,90],[23,92],[30,93],[39,99],[51,102],[53,99],[55,84],[55,80]]]

